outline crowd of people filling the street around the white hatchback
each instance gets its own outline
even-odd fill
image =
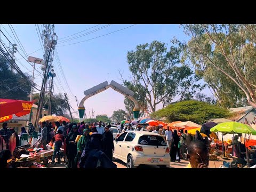
[[[65,157],[67,168],[116,167],[112,162],[115,149],[113,134],[110,132],[110,124],[105,125],[102,122],[68,124],[63,121],[62,124],[59,122],[42,122],[39,126],[41,136],[34,144],[34,147],[47,149],[47,144],[54,143],[53,166],[56,163],[60,163],[61,157]],[[128,130],[140,131],[143,130],[143,127],[138,125],[134,128],[131,125],[124,126],[124,124],[117,123],[117,129],[120,132]],[[34,126],[29,123],[29,134],[32,134],[34,130]],[[186,159],[190,162],[187,167],[204,168],[208,166],[209,153],[204,140],[191,141],[187,131],[183,132],[181,130],[178,133],[177,130],[174,130],[172,132],[168,126],[166,130],[163,126],[156,126],[151,131],[163,135],[170,149],[171,162],[180,162],[180,159],[185,158],[182,154],[187,154]],[[23,133],[26,133],[25,129],[21,129],[21,135]],[[1,138],[7,145],[5,148],[2,146],[2,151],[4,151],[0,152],[2,155],[8,156],[7,154],[9,154],[6,153],[5,149],[9,148],[8,140],[11,135],[17,139],[16,143],[19,143],[18,134],[15,133],[14,129],[7,129],[7,123],[4,123],[3,129],[0,130],[0,150]],[[205,146],[205,148],[202,146]],[[62,156],[60,152],[61,147],[64,147],[66,152]],[[8,158],[10,157],[8,156]],[[57,162],[55,162],[55,158],[57,158]]]

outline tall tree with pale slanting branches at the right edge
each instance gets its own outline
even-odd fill
[[[183,25],[190,60],[223,107],[256,107],[256,25]]]

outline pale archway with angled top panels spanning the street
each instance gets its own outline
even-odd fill
[[[92,87],[91,89],[84,91],[85,97],[81,100],[81,102],[79,103],[79,107],[78,107],[80,122],[82,121],[82,119],[84,117],[84,111],[85,111],[84,102],[85,102],[85,100],[87,100],[88,98],[92,97],[95,94],[98,94],[102,91],[106,91],[109,87],[111,87],[118,93],[123,94],[125,97],[131,99],[134,102],[133,116],[134,116],[134,119],[138,119],[140,108],[139,108],[139,104],[138,104],[137,100],[135,100],[135,98],[133,97],[134,92],[129,90],[127,87],[124,87],[123,85],[120,85],[119,83],[116,83],[115,81],[112,80],[110,82],[110,84],[108,84],[108,82],[106,81],[106,82],[103,82],[99,85]]]

